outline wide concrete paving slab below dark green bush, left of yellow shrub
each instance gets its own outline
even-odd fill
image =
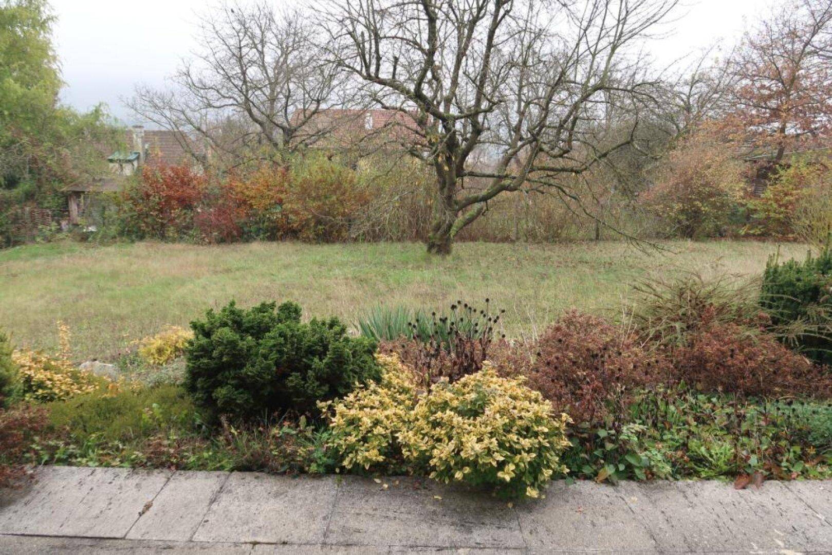
[[[232,473],[196,542],[323,543],[335,478]]]

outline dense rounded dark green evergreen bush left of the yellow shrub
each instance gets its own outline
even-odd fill
[[[380,377],[372,339],[349,337],[336,318],[301,323],[295,303],[244,310],[232,301],[191,328],[185,388],[211,416],[310,413]]]

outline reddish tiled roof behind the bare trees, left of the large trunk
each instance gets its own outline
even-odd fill
[[[301,121],[304,112],[295,111],[291,121]],[[297,133],[299,141],[314,146],[410,146],[422,142],[414,115],[399,110],[354,110],[328,108],[314,113]]]

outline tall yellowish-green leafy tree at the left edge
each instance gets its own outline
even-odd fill
[[[63,206],[62,186],[92,176],[105,163],[95,147],[112,138],[103,107],[58,102],[54,21],[45,0],[0,0],[0,245],[10,210]]]

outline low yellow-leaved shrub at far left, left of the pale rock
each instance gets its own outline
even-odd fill
[[[23,389],[23,399],[47,403],[95,391],[108,380],[84,372],[67,359],[40,351],[18,349],[12,354]]]

